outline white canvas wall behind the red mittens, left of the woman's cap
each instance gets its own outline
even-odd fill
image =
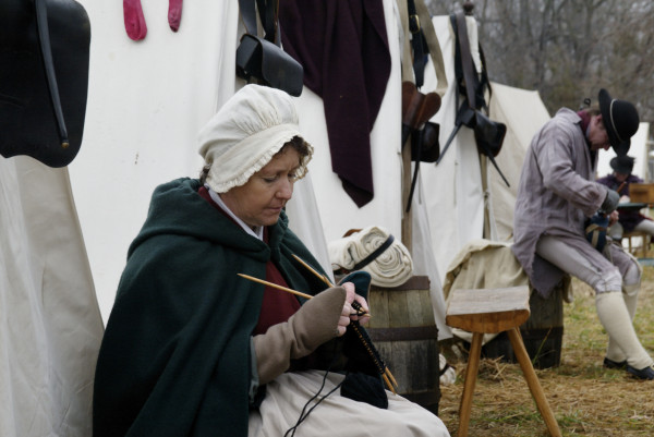
[[[198,174],[196,134],[234,93],[239,9],[232,1],[186,2],[173,33],[168,2],[143,0],[148,33],[133,41],[122,2],[81,3],[92,27],[88,102],[82,148],[69,167],[107,320],[153,190]]]

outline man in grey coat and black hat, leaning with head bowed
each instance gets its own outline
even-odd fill
[[[613,147],[626,155],[640,122],[629,101],[613,99],[606,89],[598,100],[579,112],[559,109],[534,135],[518,186],[512,250],[545,296],[565,272],[591,286],[608,335],[604,365],[654,379],[654,362],[632,325],[641,268],[621,246],[600,248],[584,233],[586,219],[611,214],[620,197],[594,181],[597,154]]]

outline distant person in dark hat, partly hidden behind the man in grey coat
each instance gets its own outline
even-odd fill
[[[618,194],[621,196],[620,202],[630,201],[629,185],[631,183],[643,183],[642,179],[631,173],[633,170],[633,161],[634,158],[628,155],[616,156],[610,160],[610,168],[614,172],[597,180],[597,182],[611,190],[617,191],[621,186],[618,191]],[[650,235],[654,235],[654,221],[640,214],[640,210],[638,209],[621,209],[618,221],[608,229],[608,234],[613,240],[619,242],[625,232],[632,231],[645,232]]]

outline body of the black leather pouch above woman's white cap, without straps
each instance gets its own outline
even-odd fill
[[[237,75],[298,97],[302,94],[304,70],[277,45],[245,34],[237,49]]]

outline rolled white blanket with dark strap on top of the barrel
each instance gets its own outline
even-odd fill
[[[365,266],[358,266],[362,260],[374,256],[375,251],[380,250],[384,244],[389,245]],[[365,270],[371,274],[372,283],[377,287],[398,287],[413,275],[409,250],[382,227],[371,226],[331,241],[327,248],[335,270]]]

